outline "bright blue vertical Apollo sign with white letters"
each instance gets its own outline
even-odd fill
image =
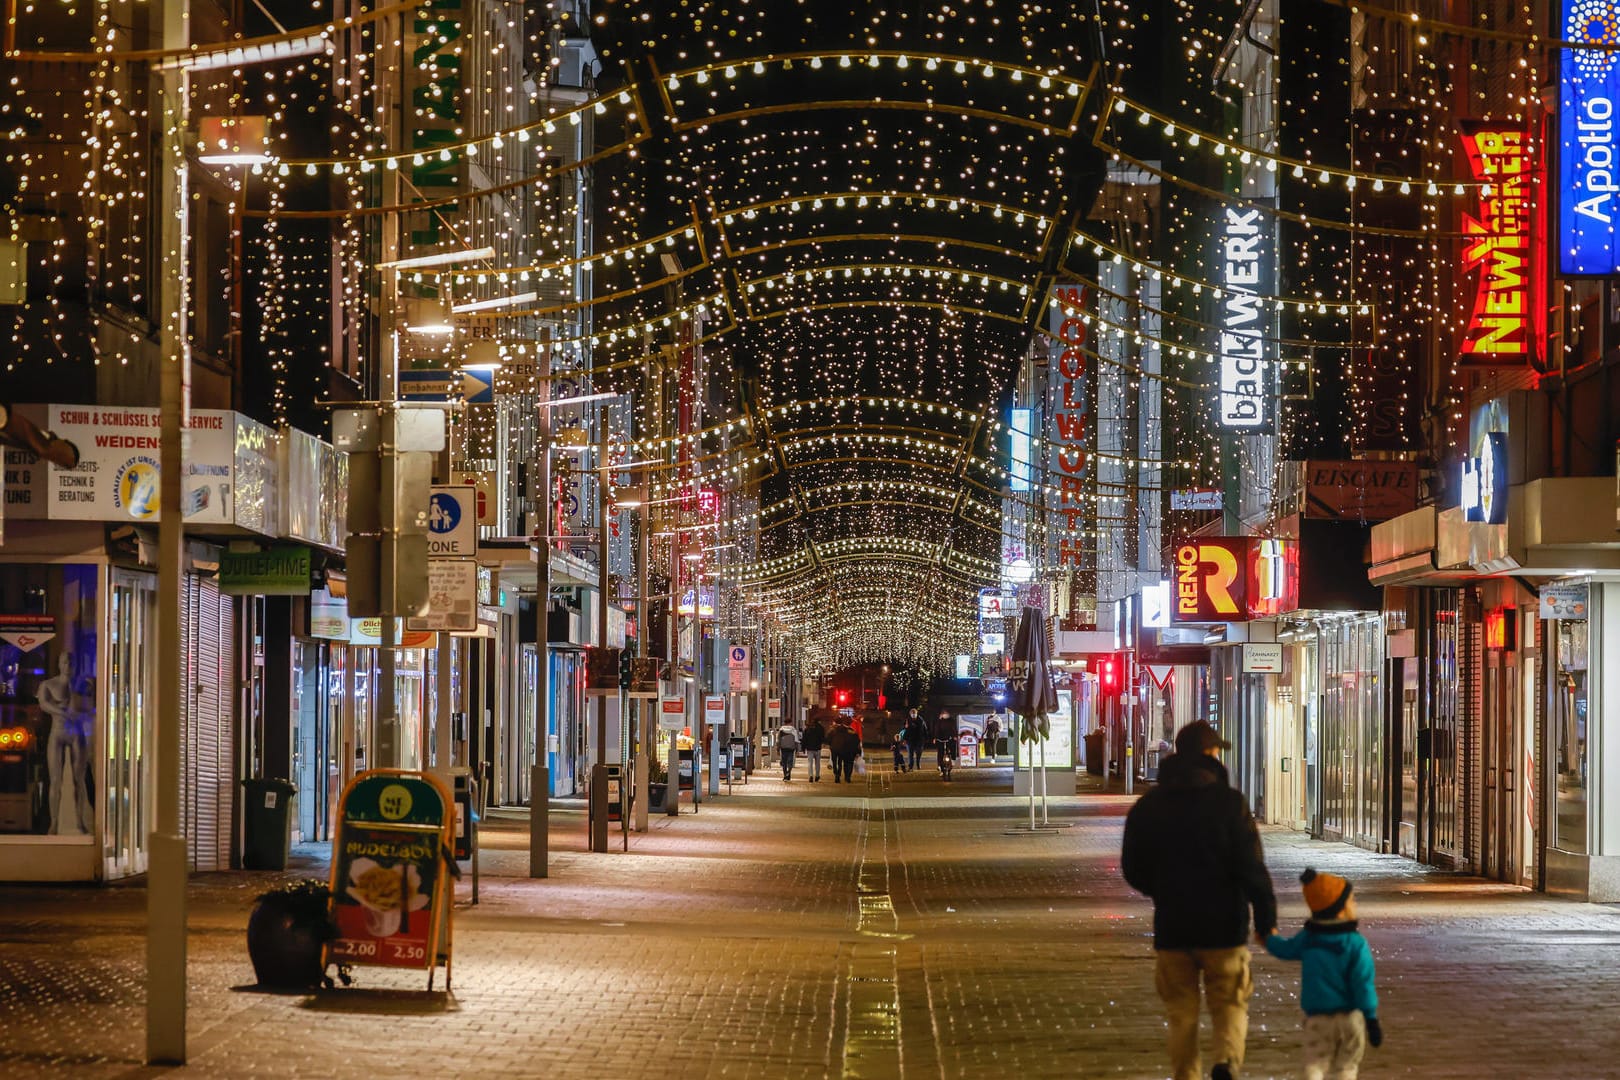
[[[1560,0],[1558,272],[1620,274],[1620,0]]]

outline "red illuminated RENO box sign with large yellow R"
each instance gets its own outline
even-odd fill
[[[1171,622],[1247,622],[1299,607],[1299,544],[1196,536],[1174,547]]]

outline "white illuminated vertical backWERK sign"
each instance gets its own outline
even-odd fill
[[[1272,429],[1272,372],[1265,359],[1265,220],[1257,207],[1228,206],[1220,236],[1220,424]]]

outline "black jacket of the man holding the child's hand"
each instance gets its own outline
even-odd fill
[[[1171,755],[1158,785],[1124,819],[1124,879],[1153,899],[1155,949],[1231,949],[1254,925],[1277,929],[1277,897],[1260,832],[1226,767],[1209,755]]]

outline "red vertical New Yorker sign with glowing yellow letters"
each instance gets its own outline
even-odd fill
[[[1533,249],[1534,155],[1521,128],[1469,123],[1463,149],[1479,188],[1479,212],[1463,214],[1463,270],[1479,270],[1463,359],[1511,364],[1534,359],[1539,270]]]

